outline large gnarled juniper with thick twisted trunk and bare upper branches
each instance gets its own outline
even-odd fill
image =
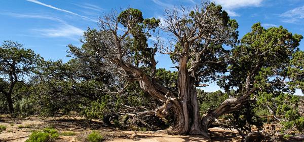
[[[282,28],[271,29],[280,32],[272,31],[272,35],[256,25],[241,45],[237,45],[238,23],[213,3],[202,3],[193,11],[166,10],[162,21],[144,19],[139,10],[132,8],[120,14],[112,12],[99,21],[100,30],[85,32],[82,48],[102,57],[103,69],[117,73],[120,81],[137,81],[143,91],[161,101],[163,105],[148,113],[153,112],[158,117],[173,113],[174,124],[168,128],[173,134],[208,136],[208,128],[217,117],[241,109],[251,99],[250,95],[262,90],[254,83],[273,83],[262,80],[273,75],[262,74],[267,71],[264,68],[279,68],[278,62],[288,66],[301,39],[300,35],[292,35]],[[162,41],[160,33],[168,33],[168,42]],[[151,36],[154,36],[151,38],[154,42],[148,44]],[[258,39],[261,36],[266,38]],[[268,41],[267,36],[276,37]],[[255,43],[254,39],[263,44]],[[225,50],[223,45],[233,47],[233,52]],[[169,54],[176,65],[178,91],[156,82],[157,52]],[[283,57],[272,58],[275,53]],[[230,73],[224,74],[227,71]],[[220,80],[219,85],[227,91],[237,88],[238,97],[225,100],[201,119],[196,88],[214,80]]]

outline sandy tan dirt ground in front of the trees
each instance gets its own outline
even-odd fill
[[[80,117],[27,117],[25,119],[12,119],[0,116],[0,125],[6,126],[6,130],[0,132],[0,141],[25,141],[33,130],[41,130],[44,127],[54,127],[59,133],[73,131],[75,135],[59,136],[56,141],[86,141],[87,135],[92,130],[99,131],[104,136],[104,141],[138,141],[138,142],[183,142],[183,141],[238,141],[235,131],[222,129],[210,129],[211,139],[205,139],[199,135],[170,135],[165,131],[137,131],[121,130],[105,126],[99,120],[92,120],[89,124]],[[22,126],[22,127],[21,127]]]

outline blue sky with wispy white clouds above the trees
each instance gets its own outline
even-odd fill
[[[292,33],[304,35],[304,1],[302,0],[215,0],[239,23],[241,38],[250,32],[252,24],[260,22],[265,28],[280,26]],[[180,5],[194,7],[201,1],[60,1],[60,0],[16,0],[0,1],[0,41],[12,40],[24,44],[45,59],[63,61],[66,46],[81,46],[79,39],[87,27],[98,28],[98,16],[112,9],[120,11],[128,7],[142,11],[144,18],[162,18],[166,8]],[[299,48],[304,50],[304,42]],[[171,67],[167,56],[158,55],[158,67]],[[206,91],[219,88],[211,83]],[[296,94],[301,94],[297,91]]]

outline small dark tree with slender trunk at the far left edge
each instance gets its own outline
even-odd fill
[[[23,45],[4,41],[0,47],[0,77],[2,78],[1,92],[6,96],[10,114],[14,113],[14,87],[18,82],[25,82],[41,57]],[[15,95],[15,96],[12,96]]]

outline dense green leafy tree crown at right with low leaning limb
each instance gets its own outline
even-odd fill
[[[290,74],[301,74],[301,69],[294,68],[301,68],[300,65],[293,65],[292,59],[292,55],[300,53],[297,47],[301,39],[301,35],[292,34],[282,26],[264,29],[260,23],[254,24],[252,31],[245,34],[241,44],[232,50],[233,61],[228,67],[230,75],[219,82],[226,90],[236,88],[239,97],[225,100],[219,107],[221,109],[212,114],[231,112],[248,101],[257,100],[260,107],[268,108],[275,116],[281,112],[277,109],[283,107],[282,112],[288,116],[281,121],[291,121],[291,116],[298,118],[298,112],[292,107],[298,100],[291,95],[294,89],[290,84],[298,87],[303,80],[300,77],[292,79]]]

